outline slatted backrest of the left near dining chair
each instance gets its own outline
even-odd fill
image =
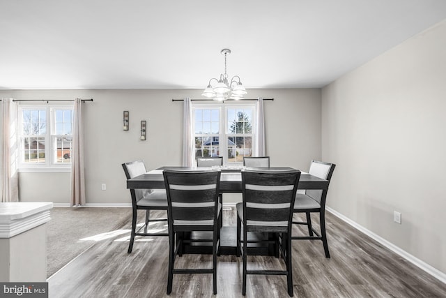
[[[164,170],[169,229],[178,225],[215,225],[220,171]]]

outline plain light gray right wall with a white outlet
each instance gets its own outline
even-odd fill
[[[445,45],[442,22],[322,91],[328,206],[443,272]]]

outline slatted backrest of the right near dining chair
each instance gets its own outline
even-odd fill
[[[270,167],[268,170],[243,171],[243,224],[247,228],[274,226],[288,231],[299,178],[299,170]]]

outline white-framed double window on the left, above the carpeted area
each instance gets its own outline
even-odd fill
[[[72,106],[20,107],[20,167],[70,167],[72,120]]]

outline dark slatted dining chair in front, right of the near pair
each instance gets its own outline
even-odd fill
[[[243,258],[242,294],[246,295],[247,274],[286,275],[288,294],[293,296],[291,262],[291,223],[298,190],[299,170],[245,170],[242,172],[243,202],[237,209],[237,255]],[[243,228],[242,228],[243,227]],[[243,229],[243,230],[242,230]],[[268,240],[248,240],[248,232],[273,233]],[[252,243],[275,244],[285,262],[285,270],[248,270],[247,246]]]

